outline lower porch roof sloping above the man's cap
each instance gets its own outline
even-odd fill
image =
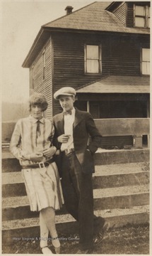
[[[150,93],[150,78],[111,75],[76,90],[77,93]]]

